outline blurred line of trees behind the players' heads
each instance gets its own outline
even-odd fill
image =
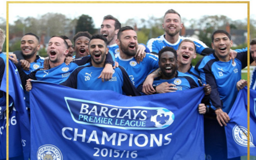
[[[164,34],[162,29],[162,18],[154,16],[149,19],[135,20],[134,18],[128,19],[122,26],[132,26],[137,29],[138,42],[144,43],[150,38],[158,37]],[[230,29],[247,30],[247,20],[231,20],[224,15],[216,16],[201,16],[199,19],[186,19],[182,18],[184,27],[186,29],[199,30],[198,38],[206,45],[210,46],[209,34],[214,30],[226,29],[226,24],[230,25]],[[0,28],[6,29],[6,20],[0,18]],[[93,18],[89,15],[82,14],[78,18],[70,19],[64,14],[60,13],[47,13],[38,18],[34,17],[18,17],[14,24],[9,24],[9,51],[20,50],[20,39],[23,34],[33,32],[39,37],[44,35],[45,42],[50,39],[52,35],[66,35],[71,40],[74,34],[80,31],[88,31],[91,34],[99,33],[99,28],[95,28]],[[250,19],[250,36],[256,38],[256,20]],[[6,52],[6,45],[4,45],[3,52]],[[246,44],[243,44],[246,46]],[[44,50],[40,52],[45,54]]]

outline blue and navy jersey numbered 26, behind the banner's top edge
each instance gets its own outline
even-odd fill
[[[104,82],[102,82],[101,78],[98,78],[102,70],[103,68],[94,67],[91,64],[89,66],[80,66],[61,84],[80,90],[112,90],[120,94],[139,95],[122,66],[115,68],[112,78]]]

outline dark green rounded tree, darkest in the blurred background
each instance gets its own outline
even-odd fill
[[[82,14],[76,23],[76,33],[84,31],[88,31],[90,34],[94,34],[96,32],[92,17]]]

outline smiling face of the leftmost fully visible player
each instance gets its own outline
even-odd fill
[[[25,59],[36,56],[36,52],[40,49],[40,45],[35,36],[25,35],[20,42],[20,49]]]

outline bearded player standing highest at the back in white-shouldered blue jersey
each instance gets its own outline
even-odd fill
[[[180,30],[182,27],[183,24],[181,22],[180,14],[173,9],[166,11],[164,14],[164,22],[162,24],[164,34],[158,38],[148,40],[147,47],[150,52],[158,54],[158,52],[165,46],[170,46],[175,50],[178,50],[178,46],[183,39],[193,40],[196,44],[196,53],[198,54],[207,55],[212,52],[212,49],[208,48],[206,44],[200,40],[180,36]]]

